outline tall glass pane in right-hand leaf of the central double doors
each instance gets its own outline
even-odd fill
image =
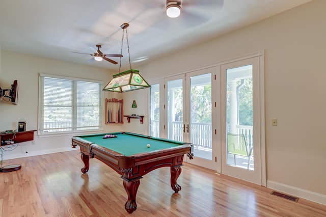
[[[190,79],[191,143],[196,157],[212,159],[211,73]],[[188,127],[188,126],[187,126]],[[186,127],[186,130],[188,130]]]

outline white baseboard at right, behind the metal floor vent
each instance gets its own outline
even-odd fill
[[[301,188],[297,188],[297,187],[293,187],[290,185],[282,184],[275,181],[269,181],[269,180],[267,180],[267,187],[282,193],[289,194],[291,196],[303,198],[316,203],[320,203],[322,205],[326,205],[326,195],[321,195],[315,192],[307,191],[305,189],[301,189]]]

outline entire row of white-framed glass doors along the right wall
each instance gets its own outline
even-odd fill
[[[192,143],[191,164],[266,186],[263,58],[259,51],[153,83],[151,135]]]

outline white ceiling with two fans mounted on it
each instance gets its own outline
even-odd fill
[[[0,0],[2,50],[118,70],[107,61],[88,63],[89,46],[120,54],[127,22],[132,68],[146,61],[289,10],[311,0],[182,0],[178,18],[166,0]],[[126,35],[122,69],[129,69]],[[146,59],[136,63],[138,60]],[[120,62],[120,58],[110,58]]]

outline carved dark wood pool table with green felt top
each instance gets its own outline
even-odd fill
[[[105,135],[110,135],[104,139]],[[150,147],[147,147],[150,144]],[[97,158],[121,175],[128,200],[127,212],[137,209],[136,194],[143,175],[161,167],[170,167],[171,187],[181,190],[177,179],[181,174],[184,154],[193,158],[193,145],[185,142],[149,137],[130,132],[111,132],[72,137],[72,147],[80,147],[84,162],[82,173],[89,170],[89,158]]]

